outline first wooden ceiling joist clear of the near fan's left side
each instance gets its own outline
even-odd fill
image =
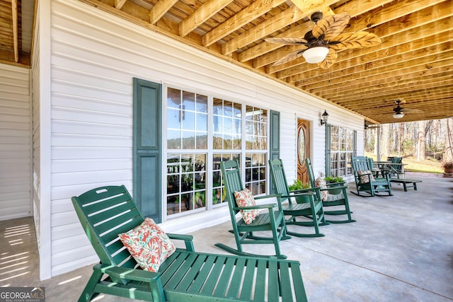
[[[202,37],[202,45],[208,47],[215,42],[222,39],[226,35],[234,32],[241,26],[250,23],[256,18],[260,17],[264,13],[267,13],[272,8],[279,6],[284,3],[286,0],[256,0],[251,5],[244,8],[239,13],[236,13],[234,16],[229,18],[224,23],[220,24],[209,33],[206,33]]]

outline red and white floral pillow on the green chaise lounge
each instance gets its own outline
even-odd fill
[[[148,217],[136,228],[118,236],[139,266],[151,272],[157,272],[176,250],[166,233]]]

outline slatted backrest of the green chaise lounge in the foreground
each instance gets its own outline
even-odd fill
[[[98,187],[72,197],[72,203],[86,236],[103,264],[122,267],[137,264],[117,236],[144,221],[124,185]]]

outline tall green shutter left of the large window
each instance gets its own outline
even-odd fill
[[[162,86],[134,79],[134,199],[144,216],[161,222]]]

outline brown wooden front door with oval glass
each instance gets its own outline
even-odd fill
[[[303,183],[309,182],[305,158],[310,158],[310,122],[297,119],[297,179]]]

